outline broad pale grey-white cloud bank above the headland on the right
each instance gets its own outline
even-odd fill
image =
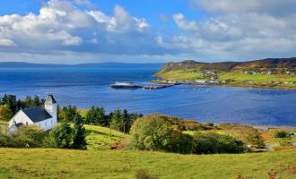
[[[296,1],[278,2],[282,1],[195,1],[214,13],[203,21],[187,20],[182,13],[173,15],[181,30],[179,36],[187,38],[179,41],[178,47],[193,49],[187,52],[191,55],[216,60],[295,56],[296,11],[279,15],[274,8],[296,6]],[[277,9],[281,10],[284,8]]]

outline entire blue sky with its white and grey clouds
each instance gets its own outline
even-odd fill
[[[10,0],[0,6],[0,62],[222,62],[292,56],[295,0]]]

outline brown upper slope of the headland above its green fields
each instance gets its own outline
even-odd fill
[[[221,63],[202,63],[193,60],[187,60],[178,63],[167,63],[161,68],[161,73],[174,70],[194,69],[199,72],[296,72],[296,57],[292,58],[266,58],[262,60],[247,62],[221,62]]]

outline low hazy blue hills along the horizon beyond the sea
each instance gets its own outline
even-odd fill
[[[98,64],[31,64],[25,62],[0,62],[0,68],[68,68],[68,67],[112,67],[112,68],[161,68],[163,64],[126,64],[126,63],[98,63]]]

